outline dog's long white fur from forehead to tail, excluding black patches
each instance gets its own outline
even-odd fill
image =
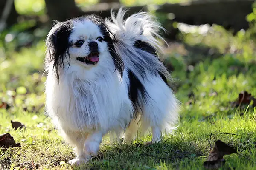
[[[79,164],[96,155],[102,137],[108,132],[125,132],[125,140],[131,141],[138,130],[145,132],[150,127],[152,141],[157,141],[161,132],[171,133],[177,123],[177,99],[163,79],[153,74],[159,70],[168,75],[166,68],[157,57],[133,46],[136,40],[141,40],[161,51],[156,38],[161,38],[158,34],[161,26],[145,12],[133,14],[126,20],[124,15],[125,11],[120,9],[116,17],[111,13],[112,21],[106,20],[117,40],[116,52],[125,65],[122,81],[104,42],[99,44],[100,55],[96,66],[81,65],[75,60],[78,54],[89,54],[88,45],[83,49],[70,48],[70,66],[65,62],[64,69],[60,70],[59,84],[53,63],[46,65],[47,113],[64,139],[76,146],[77,158],[70,161],[72,164]],[[93,39],[98,35],[99,29],[92,22],[77,21],[70,39],[77,40],[79,36]],[[138,71],[138,65],[145,75]],[[136,119],[128,96],[128,70],[138,77],[149,96],[147,102],[139,96],[143,107]]]

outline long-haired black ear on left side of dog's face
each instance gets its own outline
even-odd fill
[[[67,59],[70,62],[69,36],[72,31],[72,23],[70,21],[56,22],[55,26],[49,31],[46,39],[46,64],[53,64],[55,74],[59,79],[58,69],[64,66],[64,61]]]

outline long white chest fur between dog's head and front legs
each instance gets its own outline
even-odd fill
[[[48,112],[62,129],[108,131],[116,126],[125,128],[132,119],[126,80],[120,82],[113,73],[95,81],[78,79],[70,73],[61,77],[59,85],[54,76],[48,74],[47,79],[51,79],[47,81],[51,86],[47,88],[47,105],[52,110]]]

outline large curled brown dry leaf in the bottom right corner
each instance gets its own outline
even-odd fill
[[[235,149],[228,146],[221,140],[215,142],[213,150],[209,153],[207,161],[204,162],[204,167],[207,169],[218,169],[225,164],[224,155],[237,153]]]

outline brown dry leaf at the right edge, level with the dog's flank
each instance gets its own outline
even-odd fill
[[[233,105],[235,105],[236,107],[240,107],[241,105],[249,105],[251,101],[253,101],[253,107],[255,107],[256,98],[254,98],[252,94],[248,93],[247,91],[242,91],[241,93],[239,93],[236,101],[233,102]]]

